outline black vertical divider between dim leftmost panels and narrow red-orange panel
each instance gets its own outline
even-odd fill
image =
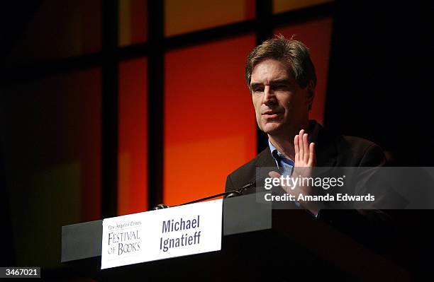
[[[118,1],[102,1],[101,217],[116,216],[118,184]]]

